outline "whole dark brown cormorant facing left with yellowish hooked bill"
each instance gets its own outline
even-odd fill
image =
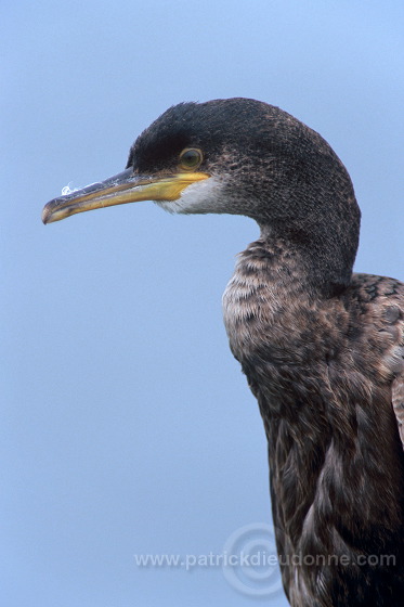
[[[404,285],[352,273],[361,214],[347,169],[278,107],[181,103],[123,172],[51,201],[43,221],[145,199],[260,228],[223,310],[268,436],[290,604],[404,605]]]

